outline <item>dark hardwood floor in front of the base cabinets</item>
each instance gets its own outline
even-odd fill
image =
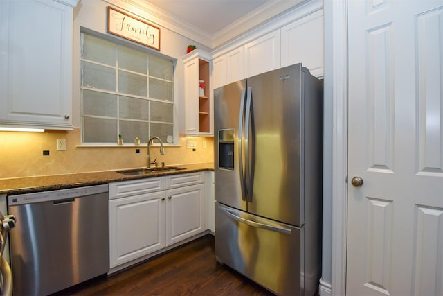
[[[215,261],[210,234],[110,276],[55,295],[273,295]]]

